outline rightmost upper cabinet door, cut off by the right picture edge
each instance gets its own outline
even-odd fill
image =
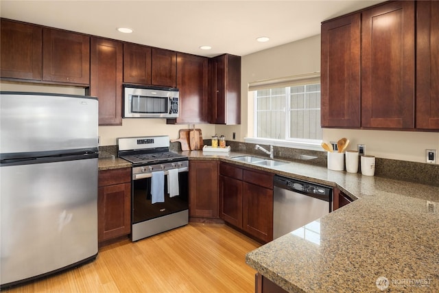
[[[416,128],[439,130],[439,2],[416,5]]]

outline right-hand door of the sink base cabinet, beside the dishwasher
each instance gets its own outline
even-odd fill
[[[273,239],[273,189],[243,184],[243,229],[265,242]]]

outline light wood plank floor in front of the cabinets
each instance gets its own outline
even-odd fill
[[[245,256],[260,244],[224,224],[190,223],[99,248],[92,263],[5,292],[254,292]]]

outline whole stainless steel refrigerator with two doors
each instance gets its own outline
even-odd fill
[[[97,98],[0,92],[1,288],[97,256]]]

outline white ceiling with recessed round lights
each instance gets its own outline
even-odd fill
[[[324,20],[383,1],[0,1],[0,15],[200,56],[245,56],[320,34]],[[117,27],[130,27],[121,34]],[[270,41],[255,39],[268,36]],[[210,45],[209,51],[199,49]]]

